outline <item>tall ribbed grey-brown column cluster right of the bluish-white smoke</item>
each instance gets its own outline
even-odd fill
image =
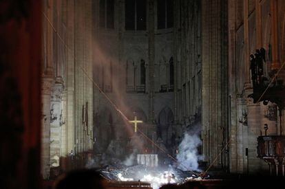
[[[204,136],[204,155],[214,166],[227,166],[220,151],[227,143],[227,38],[225,32],[227,1],[202,1],[202,126],[209,126]],[[221,14],[222,12],[222,14]],[[222,74],[221,74],[222,73]],[[206,129],[207,131],[208,129]]]

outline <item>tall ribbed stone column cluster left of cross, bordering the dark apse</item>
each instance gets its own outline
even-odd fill
[[[90,0],[74,1],[74,137],[76,153],[88,149],[87,127],[83,113],[85,104],[92,103],[92,6]],[[90,106],[89,106],[90,107]],[[89,124],[92,116],[89,113]],[[83,157],[83,156],[82,156]],[[82,162],[81,162],[82,163]]]

